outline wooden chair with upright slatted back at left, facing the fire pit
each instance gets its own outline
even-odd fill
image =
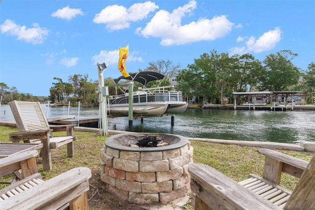
[[[24,143],[43,143],[41,155],[43,159],[43,169],[51,170],[51,149],[67,145],[67,156],[74,154],[73,136],[75,125],[49,125],[40,107],[39,102],[11,101],[12,110],[19,132],[10,133],[12,142],[24,141]],[[54,137],[52,131],[66,131],[67,136]]]

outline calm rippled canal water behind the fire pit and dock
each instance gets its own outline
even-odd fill
[[[47,106],[42,106],[47,114]],[[5,115],[4,115],[5,111]],[[70,107],[69,115],[78,116],[78,107]],[[48,118],[68,114],[68,107],[49,107]],[[98,118],[98,107],[80,107],[81,117]],[[0,121],[13,120],[8,105],[0,107]],[[108,129],[128,130],[128,118],[108,119]],[[187,109],[171,117],[133,120],[133,131],[171,133],[187,137],[227,140],[283,142],[297,144],[315,141],[315,111],[250,111]]]

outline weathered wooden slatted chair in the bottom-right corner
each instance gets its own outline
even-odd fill
[[[259,149],[258,151],[266,155],[263,178],[250,175],[250,179],[254,177],[253,179],[256,180],[255,183],[249,183],[248,186],[243,185],[247,185],[245,182],[251,181],[237,183],[210,166],[189,165],[191,190],[195,194],[195,209],[314,209],[315,155],[310,162],[307,162],[274,150]],[[282,172],[300,178],[292,193],[278,185]],[[271,187],[265,184],[269,184]],[[259,192],[264,187],[269,192]]]

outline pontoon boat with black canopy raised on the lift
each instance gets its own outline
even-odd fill
[[[129,74],[130,77],[115,79],[116,87],[129,83],[118,83],[122,79],[140,82],[143,88],[133,92],[132,112],[136,118],[157,117],[183,113],[187,109],[187,102],[183,101],[181,91],[172,90],[172,86],[147,88],[148,82],[162,80],[164,76],[158,72],[142,71]],[[109,96],[109,116],[128,116],[129,90],[121,89],[124,94]]]

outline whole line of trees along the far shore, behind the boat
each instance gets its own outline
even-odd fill
[[[306,70],[294,65],[294,58],[298,54],[290,50],[283,50],[266,56],[263,61],[257,60],[251,54],[233,55],[219,54],[216,50],[204,53],[194,59],[187,68],[181,69],[181,64],[171,60],[149,62],[149,66],[138,71],[156,71],[165,76],[163,85],[169,85],[170,76],[177,76],[177,90],[184,96],[196,96],[200,103],[223,104],[223,98],[232,98],[232,92],[237,91],[290,91],[298,90],[309,94],[308,103],[314,104],[315,63],[308,64]],[[88,74],[74,74],[68,76],[67,82],[54,77],[52,87],[47,98],[33,96],[30,93],[20,93],[15,87],[9,88],[0,83],[0,95],[4,103],[11,100],[41,101],[50,100],[51,103],[98,105],[98,81],[89,80]],[[105,86],[114,85],[112,78],[104,79]],[[151,82],[148,87],[157,85]],[[134,85],[137,89],[139,84]],[[113,87],[110,94],[116,94]],[[121,93],[121,92],[117,92]]]

